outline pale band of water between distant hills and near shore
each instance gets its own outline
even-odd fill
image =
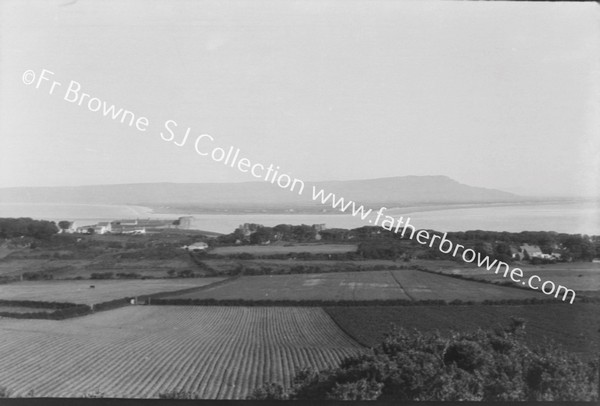
[[[381,207],[381,206],[380,206]],[[520,203],[427,204],[387,206],[387,214],[411,218],[418,228],[438,231],[555,231],[600,235],[600,205],[593,200],[548,200]],[[327,228],[356,228],[368,225],[358,216],[339,210],[323,211],[263,208],[223,208],[183,211],[179,208],[141,205],[0,203],[0,217],[31,217],[51,221],[75,221],[85,226],[118,219],[177,219],[192,216],[192,228],[230,233],[240,224],[325,224]],[[373,208],[377,210],[378,207]]]

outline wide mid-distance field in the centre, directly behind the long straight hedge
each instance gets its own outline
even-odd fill
[[[473,300],[544,297],[533,290],[465,281],[414,270],[244,276],[177,299]]]

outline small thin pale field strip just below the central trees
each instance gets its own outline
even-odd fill
[[[238,245],[234,247],[216,247],[211,254],[232,255],[247,253],[252,255],[276,255],[310,252],[311,254],[344,254],[354,252],[358,246],[353,244],[280,244],[280,245]]]

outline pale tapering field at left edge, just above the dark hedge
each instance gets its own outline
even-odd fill
[[[225,278],[32,281],[0,285],[0,299],[95,304],[205,286]],[[90,286],[94,288],[90,288]]]

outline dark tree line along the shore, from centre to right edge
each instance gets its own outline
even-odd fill
[[[233,233],[220,236],[212,245],[248,244],[261,245],[276,241],[289,243],[340,243],[352,242],[359,245],[357,254],[345,255],[343,259],[453,259],[460,257],[463,249],[473,249],[492,259],[510,263],[513,254],[520,253],[525,260],[532,260],[533,252],[521,249],[524,244],[539,247],[543,254],[559,253],[564,261],[591,261],[600,257],[600,236],[587,236],[581,234],[556,233],[552,231],[522,231],[519,233],[506,231],[458,231],[448,232],[447,239],[454,244],[463,245],[458,255],[452,256],[440,252],[440,239],[435,241],[432,247],[419,244],[410,238],[407,230],[404,237],[402,229],[398,233],[385,230],[381,227],[363,226],[354,229],[325,229],[318,230],[314,226],[299,225],[292,226],[280,224],[275,227],[266,227],[259,224],[251,224],[246,230],[236,229]],[[430,235],[444,233],[427,230]]]

